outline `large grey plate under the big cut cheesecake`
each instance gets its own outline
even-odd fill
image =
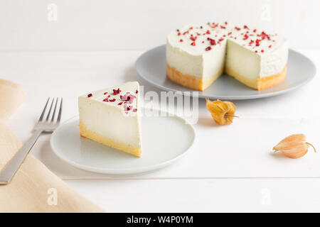
[[[142,54],[136,62],[137,73],[154,86],[166,91],[190,92],[166,77],[166,45],[161,45]],[[223,74],[199,97],[210,99],[259,99],[290,92],[309,82],[316,74],[316,66],[308,57],[297,51],[289,50],[287,78],[281,84],[257,91],[238,82],[233,77]],[[192,93],[191,93],[192,94]]]

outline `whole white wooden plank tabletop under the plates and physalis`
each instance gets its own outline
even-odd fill
[[[320,66],[320,50],[299,50]],[[48,96],[63,96],[63,120],[78,114],[77,98],[126,81],[152,87],[134,71],[144,51],[1,52],[0,77],[25,87],[28,97],[9,121],[22,141]],[[320,211],[320,155],[299,160],[272,155],[291,133],[306,133],[320,148],[319,75],[301,89],[268,99],[235,101],[233,125],[217,127],[199,101],[197,142],[164,170],[110,179],[59,160],[42,135],[32,150],[50,170],[106,211]]]

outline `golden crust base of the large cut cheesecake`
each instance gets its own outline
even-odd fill
[[[202,78],[198,78],[190,74],[182,74],[181,72],[176,70],[176,68],[171,67],[168,63],[166,64],[166,74],[173,82],[175,82],[176,84],[180,84],[183,87],[188,87],[198,91],[204,91],[207,87],[210,86],[210,84],[215,81],[215,79],[218,79],[218,77],[220,77],[220,74],[222,73],[223,70],[220,70],[218,74],[215,74],[210,79],[203,81]],[[256,80],[247,79],[241,74],[238,74],[237,72],[234,72],[233,70],[230,70],[228,68],[225,68],[225,73],[232,77],[235,77],[235,79],[238,79],[248,87],[252,87],[260,91],[262,89],[274,87],[275,85],[284,81],[287,75],[287,65],[281,72],[277,74],[270,75],[269,77],[262,77]]]

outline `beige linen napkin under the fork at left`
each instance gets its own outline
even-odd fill
[[[18,84],[0,79],[0,170],[21,148],[4,122],[25,97]],[[10,184],[0,185],[0,212],[102,212],[29,154]]]

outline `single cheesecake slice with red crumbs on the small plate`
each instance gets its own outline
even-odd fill
[[[78,101],[82,137],[140,157],[138,82],[87,93]]]

